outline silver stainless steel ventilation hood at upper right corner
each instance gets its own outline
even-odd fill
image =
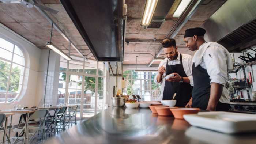
[[[228,0],[204,24],[206,41],[222,44],[230,52],[256,45],[255,0]]]

